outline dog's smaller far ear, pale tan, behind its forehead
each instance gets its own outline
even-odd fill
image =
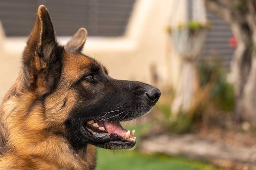
[[[64,46],[65,50],[70,53],[80,53],[87,38],[85,28],[80,28],[73,38]]]

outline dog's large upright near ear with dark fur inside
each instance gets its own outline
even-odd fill
[[[47,91],[56,86],[61,71],[61,46],[58,46],[52,21],[45,6],[38,8],[33,30],[23,53],[23,83],[30,91]]]

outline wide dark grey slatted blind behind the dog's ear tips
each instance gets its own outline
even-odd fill
[[[1,0],[0,20],[7,36],[27,36],[37,8],[49,10],[56,35],[85,27],[90,36],[123,35],[135,0]]]

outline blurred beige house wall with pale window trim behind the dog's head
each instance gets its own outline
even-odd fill
[[[159,77],[156,86],[162,88],[167,82],[175,82],[179,64],[175,55],[170,55],[171,48],[165,32],[172,2],[137,0],[124,36],[90,37],[88,33],[83,52],[106,65],[110,75],[116,79],[152,84],[150,67],[155,65]],[[18,75],[26,39],[5,38],[3,33],[0,34],[0,98],[4,97]],[[70,38],[58,39],[65,44]]]

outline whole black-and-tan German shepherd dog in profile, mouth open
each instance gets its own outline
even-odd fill
[[[47,9],[38,8],[22,68],[0,106],[0,170],[94,170],[95,146],[130,149],[120,121],[150,111],[160,91],[117,80],[81,53],[84,28],[61,46]]]

